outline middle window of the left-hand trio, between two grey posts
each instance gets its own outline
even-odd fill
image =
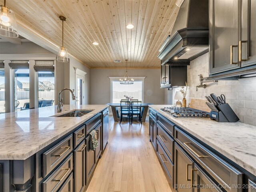
[[[29,109],[29,69],[14,69],[14,109]]]

